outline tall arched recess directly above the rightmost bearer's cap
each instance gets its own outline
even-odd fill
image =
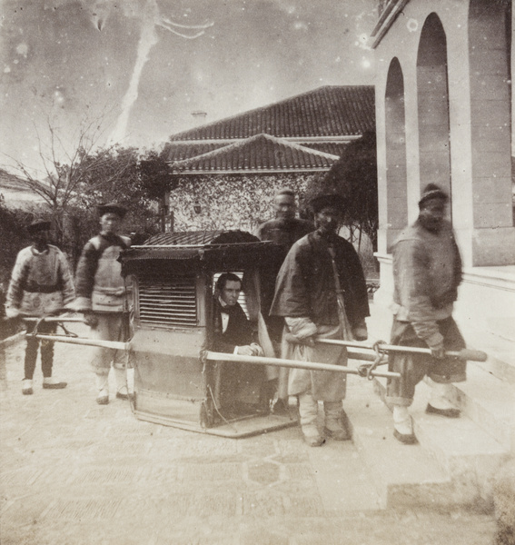
[[[417,97],[421,189],[428,183],[437,183],[451,196],[447,38],[435,13],[428,15],[421,30]],[[451,210],[449,206],[449,213]]]

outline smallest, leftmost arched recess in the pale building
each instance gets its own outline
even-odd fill
[[[391,60],[385,91],[386,198],[388,229],[408,223],[408,180],[406,162],[406,114],[404,76],[397,57]]]

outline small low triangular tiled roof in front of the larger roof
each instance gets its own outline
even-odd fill
[[[187,173],[277,173],[328,170],[337,155],[257,134],[207,154],[173,163],[173,171]]]

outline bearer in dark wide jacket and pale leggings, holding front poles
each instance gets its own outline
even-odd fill
[[[282,263],[271,314],[285,321],[283,358],[345,365],[345,348],[317,344],[317,337],[367,338],[365,318],[370,313],[360,259],[352,244],[337,234],[344,203],[338,194],[315,197],[310,206],[316,231],[294,243]],[[288,386],[288,393],[299,400],[304,441],[312,447],[325,441],[316,425],[318,401],[323,401],[324,435],[349,439],[342,425],[343,373],[292,369]]]

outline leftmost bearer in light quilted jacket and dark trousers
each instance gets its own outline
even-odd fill
[[[64,253],[49,244],[50,222],[35,221],[27,227],[32,245],[18,253],[7,291],[5,315],[8,318],[32,316],[43,318],[59,313],[74,301],[74,282]],[[55,322],[41,322],[38,332],[53,334]],[[25,378],[22,392],[33,393],[33,377],[39,341],[27,338]],[[41,342],[43,388],[65,388],[66,382],[52,376],[54,342]]]

